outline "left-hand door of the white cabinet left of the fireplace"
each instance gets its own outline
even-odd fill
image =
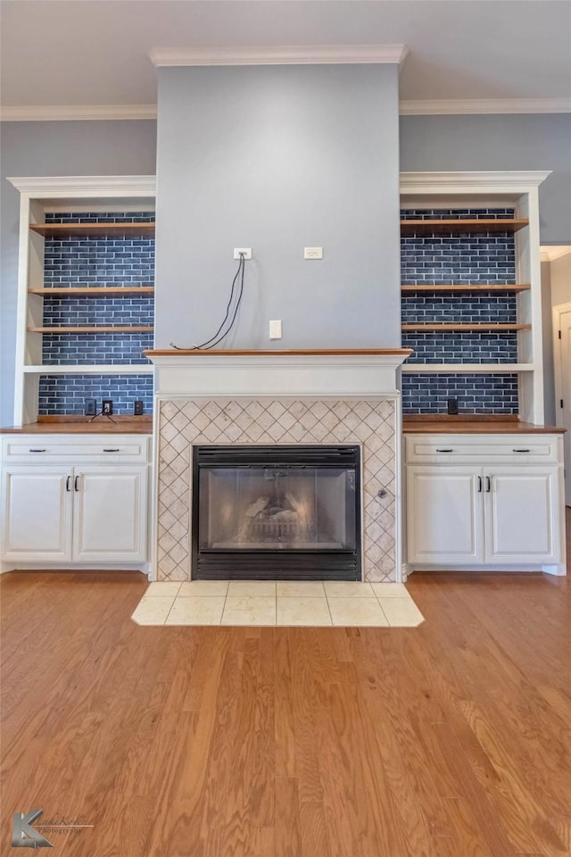
[[[71,560],[71,487],[71,470],[62,466],[4,468],[4,560]]]

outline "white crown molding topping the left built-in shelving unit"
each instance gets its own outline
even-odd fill
[[[66,196],[154,196],[155,176],[30,176],[8,179],[21,194]]]

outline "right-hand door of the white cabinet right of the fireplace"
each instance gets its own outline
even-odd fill
[[[559,562],[558,495],[557,468],[494,468],[485,495],[486,562]]]

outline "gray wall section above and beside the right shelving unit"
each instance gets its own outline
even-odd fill
[[[571,244],[571,115],[402,116],[401,171],[551,170],[542,244]]]

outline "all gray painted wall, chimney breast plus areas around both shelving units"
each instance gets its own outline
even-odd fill
[[[218,327],[234,246],[254,250],[234,345],[396,344],[393,69],[219,69],[218,94],[214,75],[198,77],[207,70],[184,70],[193,83],[176,84],[181,103],[170,93],[174,71],[161,71],[161,345],[175,337],[188,345]],[[0,425],[8,425],[19,195],[4,177],[153,174],[156,124],[4,122],[0,135]],[[542,243],[570,244],[570,141],[564,114],[407,116],[401,169],[552,170],[540,189]],[[303,262],[304,245],[323,245],[324,261]],[[569,258],[554,263],[558,275]],[[552,288],[563,294],[558,303],[571,300],[563,274]],[[284,320],[283,340],[269,343],[269,319]]]

